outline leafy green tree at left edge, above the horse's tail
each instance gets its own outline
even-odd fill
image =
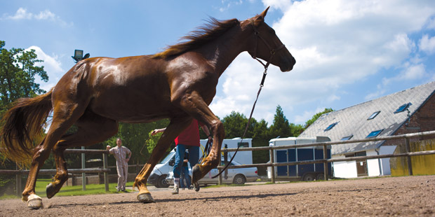
[[[0,109],[5,111],[15,99],[34,97],[46,92],[35,83],[35,76],[47,82],[48,76],[44,66],[35,66],[43,60],[37,59],[35,50],[22,48],[4,48],[5,41],[0,41]]]

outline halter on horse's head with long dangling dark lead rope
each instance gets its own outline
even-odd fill
[[[265,40],[265,38],[263,38],[262,36],[260,36],[260,32],[258,31],[257,27],[255,27],[254,21],[250,20],[250,25],[252,25],[253,29],[254,29],[254,35],[255,35],[255,47],[254,47],[254,52],[253,55],[251,55],[251,57],[253,57],[253,59],[257,60],[258,62],[260,62],[263,66],[265,66],[265,71],[263,72],[263,78],[261,79],[261,83],[260,83],[260,89],[257,92],[257,98],[255,98],[255,102],[253,104],[253,109],[250,111],[250,116],[248,119],[248,123],[246,124],[245,127],[245,132],[243,132],[243,136],[241,137],[241,141],[239,144],[242,144],[243,142],[243,138],[246,135],[246,132],[248,132],[248,127],[250,125],[250,120],[253,117],[253,113],[254,113],[254,109],[255,109],[255,104],[257,104],[257,100],[258,100],[258,96],[260,96],[260,92],[262,90],[262,87],[265,85],[265,79],[267,76],[267,68],[269,67],[270,61],[272,60],[272,57],[274,57],[276,51],[281,50],[282,48],[285,48],[286,45],[281,44],[279,45],[278,48],[272,48],[271,45],[269,45],[269,43],[267,43],[267,41]],[[267,48],[269,48],[270,50],[270,57],[269,60],[266,62],[266,64],[264,64],[261,59],[257,58],[257,46],[258,46],[258,38],[260,38],[261,41],[263,41],[263,43],[265,43],[265,45],[267,46]],[[208,143],[211,143],[210,139],[209,141],[207,141],[207,146]],[[232,156],[231,160],[229,160],[229,162],[227,163],[227,165],[225,165],[224,169],[222,169],[218,174],[216,174],[215,176],[211,177],[212,179],[215,179],[217,176],[219,176],[220,174],[222,174],[222,172],[225,171],[225,169],[227,169],[227,167],[229,166],[229,164],[233,161],[234,157],[236,156],[237,151],[239,151],[240,146],[237,146],[236,151],[234,152],[234,155]]]

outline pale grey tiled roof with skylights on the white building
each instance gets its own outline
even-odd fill
[[[323,136],[329,137],[331,141],[340,141],[342,138],[350,136],[352,136],[350,140],[365,139],[370,132],[377,130],[382,130],[377,137],[391,136],[408,121],[407,110],[410,111],[410,116],[413,116],[434,94],[434,90],[435,82],[431,82],[346,109],[323,114],[307,130],[304,130],[299,137]],[[408,105],[407,108],[406,105]],[[404,111],[396,112],[401,106],[405,107]],[[375,118],[368,120],[377,111],[380,111],[380,113]],[[334,123],[335,125],[333,125]],[[333,126],[330,127],[331,125]],[[326,130],[328,127],[330,130]],[[384,141],[371,141],[358,144],[342,144],[333,146],[331,154],[339,155],[366,151],[379,148],[383,143]]]

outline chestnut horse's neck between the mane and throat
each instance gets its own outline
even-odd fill
[[[246,51],[246,36],[240,28],[234,27],[215,41],[201,48],[203,56],[215,68],[219,76],[227,69],[237,55]]]

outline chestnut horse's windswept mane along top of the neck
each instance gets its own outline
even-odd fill
[[[206,25],[199,27],[195,31],[191,31],[189,35],[183,36],[180,40],[187,40],[175,45],[169,45],[163,52],[156,53],[153,58],[166,58],[180,55],[189,50],[199,48],[201,45],[213,41],[215,38],[224,34],[228,29],[231,29],[235,25],[239,25],[240,22],[237,19],[232,20],[216,20],[210,18],[207,20]]]

